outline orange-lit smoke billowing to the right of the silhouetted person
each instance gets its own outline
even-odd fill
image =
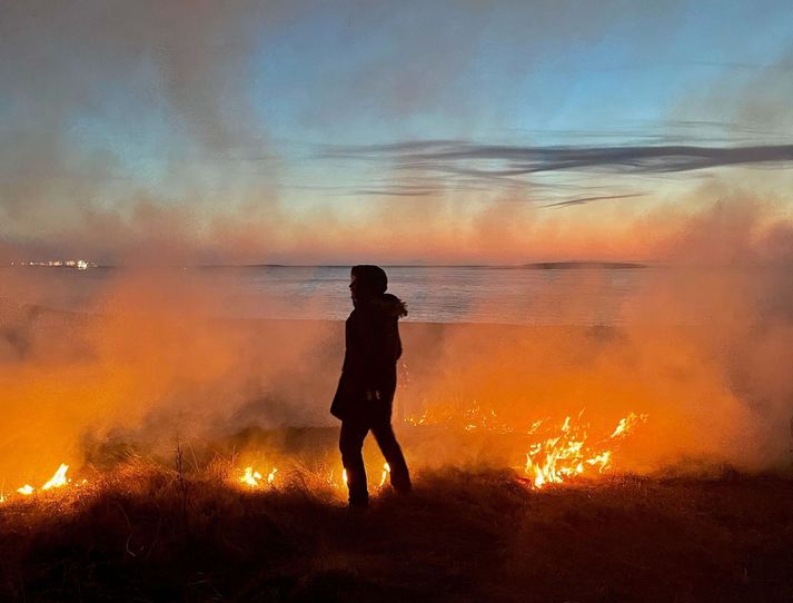
[[[494,411],[524,431],[584,411],[593,433],[633,412],[650,419],[621,451],[621,468],[790,465],[793,289],[785,275],[793,225],[746,198],[676,224],[658,244],[666,261],[637,277],[619,326],[581,326],[612,276],[573,270],[542,295],[525,294],[526,317],[553,307],[557,326],[450,325],[440,343],[415,343],[435,353],[429,374],[415,379],[422,385],[414,384],[412,411],[452,412],[458,421],[466,409]],[[489,304],[505,302],[494,296]],[[480,453],[454,449],[468,461]]]

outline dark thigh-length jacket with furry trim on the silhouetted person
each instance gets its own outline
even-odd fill
[[[330,414],[349,418],[390,413],[396,391],[396,363],[402,356],[398,320],[405,303],[391,294],[360,302],[345,324],[341,377]]]

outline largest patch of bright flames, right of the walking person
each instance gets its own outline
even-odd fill
[[[588,469],[603,473],[608,467],[614,453],[611,448],[613,442],[627,435],[640,422],[646,421],[647,415],[631,413],[619,419],[612,435],[594,445],[588,445],[589,425],[574,425],[568,416],[557,434],[529,446],[526,453],[526,474],[534,486],[541,488],[547,484],[565,482]],[[535,423],[529,433],[535,433],[538,427],[539,424]]]

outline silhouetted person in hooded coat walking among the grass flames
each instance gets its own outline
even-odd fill
[[[386,293],[387,287],[383,268],[353,268],[349,289],[354,309],[345,326],[344,366],[330,406],[330,413],[341,419],[339,449],[347,469],[350,506],[369,503],[361,454],[369,429],[388,462],[394,490],[410,492],[407,464],[391,429],[396,365],[402,356],[398,320],[407,316],[407,308]]]

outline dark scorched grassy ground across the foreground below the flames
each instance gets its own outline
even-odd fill
[[[6,503],[0,558],[4,601],[790,601],[793,481],[440,469],[356,513],[138,468]]]

